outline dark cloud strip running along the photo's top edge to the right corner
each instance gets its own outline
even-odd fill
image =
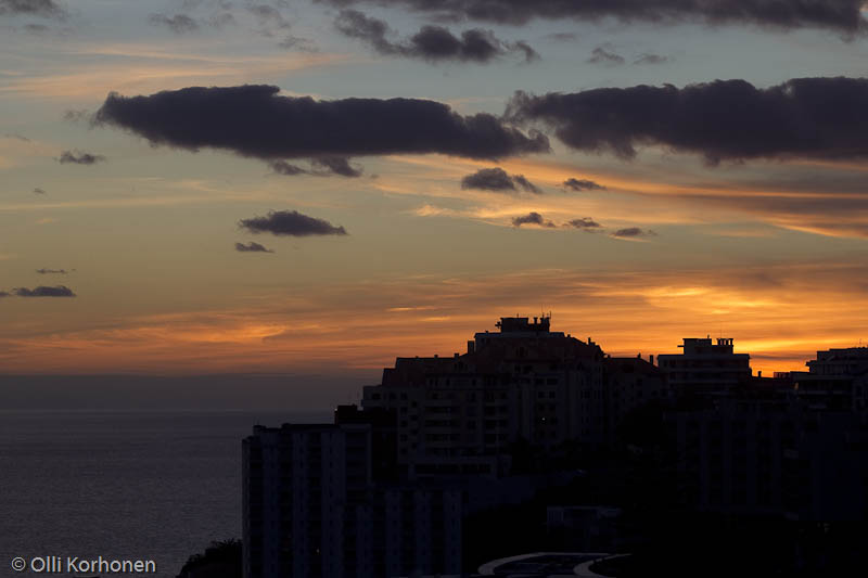
[[[524,24],[532,18],[677,24],[751,24],[792,29],[829,28],[851,35],[866,25],[863,0],[318,0],[339,7],[381,4],[438,17]]]

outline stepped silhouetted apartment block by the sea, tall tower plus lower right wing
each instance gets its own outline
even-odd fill
[[[375,429],[358,422],[387,425],[388,414],[366,413],[342,408],[336,425],[256,426],[244,440],[245,578],[460,571],[465,489],[388,476],[374,484]]]

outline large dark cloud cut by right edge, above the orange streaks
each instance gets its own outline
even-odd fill
[[[637,86],[541,97],[516,93],[514,123],[541,123],[567,146],[636,156],[639,145],[748,158],[868,157],[868,79],[797,78],[766,89],[744,80]]]

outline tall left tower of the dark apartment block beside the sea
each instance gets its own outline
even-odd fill
[[[243,442],[245,578],[372,575],[371,426],[255,426]]]

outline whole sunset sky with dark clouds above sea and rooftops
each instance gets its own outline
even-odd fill
[[[613,356],[803,369],[868,339],[866,24],[0,0],[0,374],[375,383],[549,311]]]

